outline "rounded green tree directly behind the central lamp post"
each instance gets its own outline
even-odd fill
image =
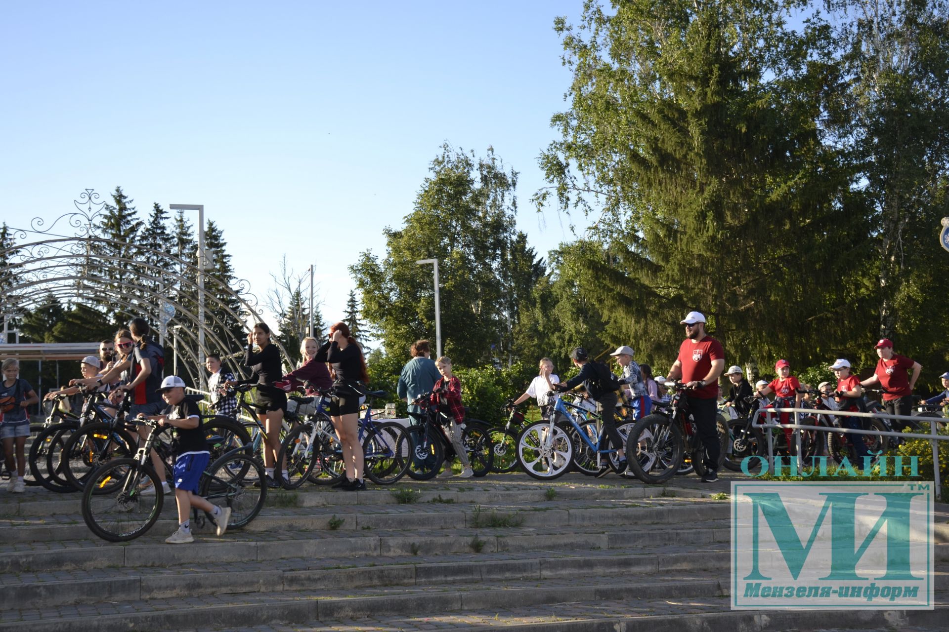
[[[448,144],[430,166],[404,226],[387,227],[386,253],[363,252],[350,267],[363,297],[363,318],[390,352],[435,338],[432,268],[437,259],[443,352],[459,366],[498,361],[504,274],[514,230],[517,173],[489,148],[483,158]]]

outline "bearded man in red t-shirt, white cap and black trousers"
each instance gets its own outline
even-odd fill
[[[718,376],[725,370],[725,351],[721,343],[705,334],[705,316],[689,312],[680,324],[685,325],[685,340],[679,347],[679,357],[669,369],[667,381],[681,378],[689,400],[689,411],[696,422],[698,436],[705,445],[705,467],[708,472],[702,482],[718,480]]]

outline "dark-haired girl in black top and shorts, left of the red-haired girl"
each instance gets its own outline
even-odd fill
[[[253,352],[253,344],[257,343],[259,352]],[[225,386],[236,384],[257,385],[257,416],[264,421],[267,431],[267,444],[264,446],[264,472],[267,474],[267,484],[270,487],[280,487],[280,483],[273,476],[274,464],[280,453],[280,427],[284,424],[284,413],[287,412],[287,393],[273,386],[274,381],[280,380],[284,374],[280,350],[270,344],[270,327],[266,323],[258,322],[253,326],[251,334],[247,334],[247,352],[244,353],[244,366],[251,368],[251,377],[246,380],[228,382]],[[288,480],[287,461],[280,463],[281,474]]]

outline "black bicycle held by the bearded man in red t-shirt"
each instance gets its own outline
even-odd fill
[[[685,384],[666,382],[672,390],[667,406],[637,422],[626,441],[629,469],[644,483],[661,483],[676,475],[688,456],[696,474],[704,476],[705,446],[698,436],[698,427],[688,411]],[[725,460],[728,427],[724,420],[716,421],[719,441],[718,466]]]

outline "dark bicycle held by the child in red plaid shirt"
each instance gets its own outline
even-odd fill
[[[409,411],[409,416],[417,422],[405,429],[410,439],[404,445],[406,449],[411,450],[411,453],[406,455],[407,474],[411,479],[434,478],[441,469],[442,462],[455,455],[455,448],[445,428],[449,418],[438,409],[433,398],[435,394],[436,391],[429,391],[412,402],[414,406],[421,407],[422,412]],[[462,424],[461,442],[465,446],[468,462],[476,478],[491,472],[494,454],[488,430],[488,424],[477,419],[466,419]]]

